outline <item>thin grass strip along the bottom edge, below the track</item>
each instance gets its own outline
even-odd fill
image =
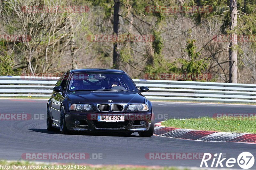
[[[13,166],[14,165],[14,166]],[[52,167],[49,167],[49,166]],[[76,165],[76,167],[75,167]],[[79,165],[79,167],[78,167]],[[5,166],[1,167],[1,166]],[[23,170],[23,169],[33,169],[33,170],[42,170],[42,169],[48,169],[48,170],[59,170],[59,169],[79,169],[79,170],[85,170],[85,169],[91,169],[91,170],[146,170],[146,169],[160,169],[160,170],[189,170],[187,168],[176,168],[176,167],[160,167],[160,166],[103,166],[103,165],[96,165],[96,166],[83,166],[80,164],[57,164],[57,163],[38,163],[38,162],[26,162],[26,161],[5,161],[0,160],[0,169],[7,169],[9,166],[9,169],[12,167],[15,170]],[[23,166],[23,167],[22,167]],[[29,166],[29,167],[28,167]],[[64,168],[62,168],[64,166]],[[66,168],[65,168],[66,166]]]

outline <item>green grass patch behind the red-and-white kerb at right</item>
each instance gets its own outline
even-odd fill
[[[252,117],[200,117],[186,120],[169,119],[163,126],[183,129],[209,130],[256,134],[256,116]]]

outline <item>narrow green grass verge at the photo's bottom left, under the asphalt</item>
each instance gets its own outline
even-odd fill
[[[91,170],[147,170],[147,169],[159,169],[159,170],[189,170],[187,168],[176,168],[176,167],[159,167],[159,166],[152,166],[152,167],[140,167],[140,166],[118,166],[118,165],[108,165],[108,166],[102,166],[102,165],[96,165],[96,166],[86,166],[86,168],[71,168],[70,166],[73,165],[77,165],[77,164],[57,164],[57,163],[38,163],[38,162],[27,162],[27,161],[5,161],[5,160],[0,160],[0,165],[1,166],[10,166],[10,169],[12,168],[12,165],[16,165],[15,170],[21,170],[22,167],[17,167],[17,166],[41,166],[41,167],[34,167],[33,170],[43,170],[44,167],[42,166],[47,166],[47,165],[52,165],[55,166],[54,168],[51,168],[52,170],[54,169],[62,169],[62,168],[57,168],[57,166],[63,166],[66,165],[69,168],[63,168],[63,169],[79,169],[79,170],[86,170],[86,169],[91,169]],[[1,167],[0,167],[1,169]],[[4,168],[2,168],[4,169]],[[23,167],[23,169],[25,169]],[[28,168],[27,168],[28,169]],[[47,167],[45,168],[47,169]]]

